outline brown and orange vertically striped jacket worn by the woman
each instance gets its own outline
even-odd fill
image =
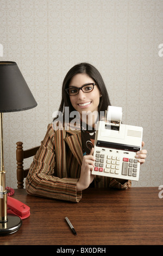
[[[41,146],[34,156],[26,178],[28,194],[79,202],[82,191],[76,189],[83,161],[80,129],[71,129],[70,124],[49,124]],[[123,185],[115,179],[95,176],[95,187],[126,189],[131,181]]]

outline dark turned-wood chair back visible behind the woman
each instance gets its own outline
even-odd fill
[[[39,147],[34,147],[31,149],[23,150],[23,143],[22,142],[17,142],[16,143],[16,161],[17,161],[17,188],[24,188],[24,178],[27,177],[27,174],[29,172],[28,169],[23,168],[23,160],[27,159],[31,156],[34,156],[37,152],[37,150],[40,148]]]

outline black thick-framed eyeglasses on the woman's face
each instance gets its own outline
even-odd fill
[[[79,90],[82,90],[83,93],[90,93],[94,89],[94,86],[97,86],[97,83],[87,83],[84,86],[78,87],[70,87],[65,89],[69,96],[75,96],[79,93]]]

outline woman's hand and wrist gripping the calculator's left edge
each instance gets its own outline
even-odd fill
[[[94,175],[91,174],[93,167],[95,167],[95,158],[93,157],[94,148],[91,149],[90,155],[83,157],[80,178],[77,182],[77,191],[85,190],[94,179]]]

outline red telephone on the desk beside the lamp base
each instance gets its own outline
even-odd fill
[[[13,197],[7,198],[8,205],[8,214],[14,214],[24,220],[24,218],[28,218],[30,216],[30,208],[26,204],[18,201]]]

